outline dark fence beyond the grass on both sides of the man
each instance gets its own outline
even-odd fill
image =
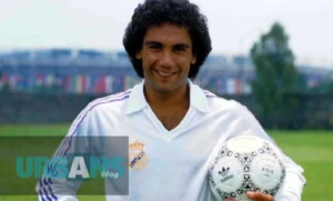
[[[274,120],[263,117],[252,96],[223,96],[246,105],[266,129],[333,129],[333,94],[292,94],[296,107]],[[0,93],[0,124],[69,123],[97,96]],[[285,103],[287,104],[287,103]]]

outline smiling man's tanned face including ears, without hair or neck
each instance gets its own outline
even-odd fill
[[[186,86],[190,66],[196,61],[189,31],[168,23],[148,29],[137,59],[142,59],[147,87],[160,93]]]

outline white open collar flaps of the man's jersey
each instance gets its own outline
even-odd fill
[[[190,86],[190,105],[198,109],[201,112],[208,112],[208,98],[202,91],[202,89],[196,84],[193,84],[190,79],[188,79],[188,84]],[[143,93],[143,86],[144,80],[142,80],[141,83],[133,87],[125,108],[127,114],[138,112],[149,105]]]

